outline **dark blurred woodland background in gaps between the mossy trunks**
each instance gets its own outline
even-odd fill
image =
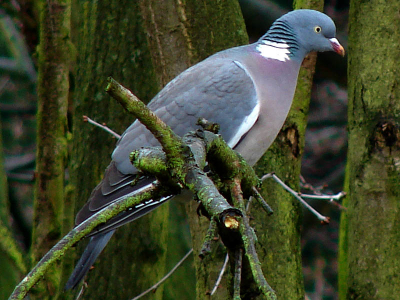
[[[240,0],[250,40],[257,40],[272,22],[291,10],[290,0]],[[36,59],[38,18],[33,0],[0,3],[0,126],[2,155],[0,173],[7,189],[0,191],[0,217],[10,228],[22,251],[31,244],[32,199],[36,136]],[[324,11],[338,29],[338,39],[347,45],[348,0],[325,1]],[[309,114],[302,176],[316,192],[341,191],[347,148],[346,60],[332,53],[319,54]],[[89,125],[88,125],[89,126]],[[0,160],[1,162],[1,160]],[[8,193],[8,194],[7,194]],[[329,226],[304,213],[303,270],[309,299],[337,299],[337,249],[339,208],[328,202],[311,202],[331,217]],[[9,210],[9,212],[7,212]],[[1,258],[3,257],[3,258]],[[9,268],[0,249],[0,269]],[[20,274],[21,275],[21,274]],[[15,275],[13,275],[15,277]],[[0,275],[0,299],[6,299],[13,281]],[[10,279],[10,278],[8,278]],[[15,282],[16,283],[16,282]],[[9,285],[9,286],[5,286]]]

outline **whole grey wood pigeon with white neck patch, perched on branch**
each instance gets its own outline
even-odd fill
[[[289,12],[256,43],[218,52],[181,73],[148,107],[180,136],[195,130],[200,117],[218,123],[229,146],[254,165],[286,119],[304,57],[312,51],[344,55],[335,36],[335,24],[327,15],[305,9]],[[113,201],[154,184],[154,178],[142,178],[131,185],[137,169],[130,163],[129,154],[140,147],[157,145],[140,122],[129,126],[117,143],[103,180],[79,211],[76,224]],[[99,226],[91,234],[66,289],[82,280],[117,227],[147,214],[169,198],[137,205]]]

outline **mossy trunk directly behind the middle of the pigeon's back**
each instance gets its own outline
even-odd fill
[[[248,42],[240,7],[236,1],[192,0],[182,3],[144,0],[141,7],[154,68],[162,85],[211,54]],[[199,219],[197,216],[196,202],[191,201],[187,204],[196,266],[196,293],[198,299],[204,299],[204,295],[214,284],[223,255],[219,252],[219,256],[212,256],[204,261],[198,258],[208,223],[205,218]],[[173,224],[170,224],[168,245],[174,248],[168,250],[168,257],[176,262],[183,256],[182,250],[185,245],[182,241],[185,234],[187,235],[187,229],[178,227],[182,226],[183,222],[175,224],[176,216],[182,212],[181,204],[170,203],[170,212]],[[215,264],[215,259],[220,264]],[[169,264],[172,267],[172,264]],[[193,289],[187,288],[191,285],[180,284],[182,280],[187,280],[189,271],[181,268],[177,272],[181,272],[181,275],[177,274],[169,279],[170,288],[166,288],[165,297],[177,299],[177,290],[182,290],[185,295],[183,298],[194,299]],[[221,293],[224,292],[221,290]]]

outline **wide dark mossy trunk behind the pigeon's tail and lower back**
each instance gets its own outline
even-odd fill
[[[103,176],[115,139],[84,123],[82,116],[105,122],[118,133],[132,117],[104,89],[108,76],[149,101],[160,85],[151,61],[137,1],[74,1],[76,45],[71,185],[79,210]],[[85,299],[130,299],[157,282],[166,258],[168,206],[117,230],[87,276]],[[79,247],[82,253],[82,246]],[[65,270],[69,276],[71,268]],[[153,299],[161,299],[159,288]]]

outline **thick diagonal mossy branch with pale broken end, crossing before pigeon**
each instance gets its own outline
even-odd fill
[[[206,149],[199,133],[189,133],[181,139],[143,102],[111,77],[108,79],[106,91],[128,112],[137,117],[160,142],[162,150],[166,154],[168,171],[172,174],[171,179],[175,181],[175,184],[192,191],[201,201],[210,218],[217,219],[227,229],[238,228],[241,212],[226,201],[203,171]],[[214,135],[214,139],[215,137],[216,135]],[[211,136],[210,139],[213,140]],[[136,159],[141,157],[141,151],[147,150],[138,150],[131,156],[135,166],[140,163]],[[162,157],[160,160],[162,161]],[[157,173],[159,170],[159,168],[155,168],[148,171],[151,175],[159,178],[162,176],[161,173]],[[151,171],[156,173],[151,173]]]

